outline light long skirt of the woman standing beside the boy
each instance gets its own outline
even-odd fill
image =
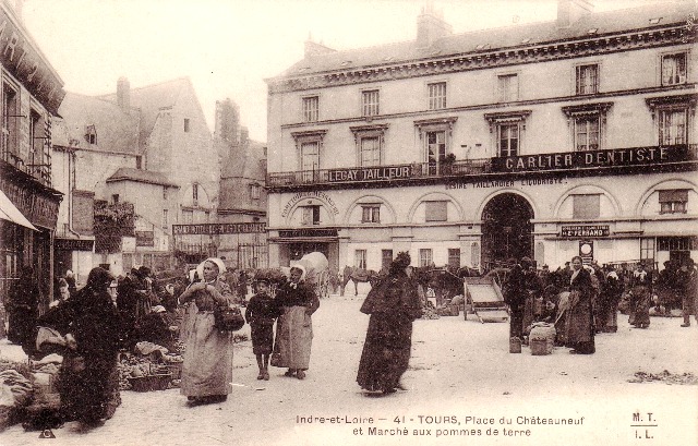
[[[287,306],[276,324],[273,364],[276,367],[308,370],[313,345],[313,323],[305,306]]]

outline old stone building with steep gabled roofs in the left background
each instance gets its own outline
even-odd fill
[[[55,171],[69,196],[61,206],[63,269],[82,277],[96,265],[116,274],[164,269],[173,253],[190,262],[215,253],[209,236],[173,232],[173,225],[214,221],[218,207],[220,160],[189,79],[131,88],[122,77],[116,94],[69,93],[60,116]],[[135,220],[131,237],[97,245],[93,255],[84,241],[95,239],[96,201],[130,204],[123,210]]]

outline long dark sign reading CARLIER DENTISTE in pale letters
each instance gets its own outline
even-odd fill
[[[685,145],[661,147],[630,147],[607,150],[563,152],[527,156],[492,158],[495,172],[520,172],[537,170],[564,170],[594,167],[658,165],[689,160]]]

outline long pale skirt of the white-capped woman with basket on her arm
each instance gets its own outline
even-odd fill
[[[190,314],[184,338],[180,394],[228,395],[232,381],[232,333],[214,327],[214,312]]]

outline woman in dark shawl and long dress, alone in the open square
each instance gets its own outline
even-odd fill
[[[371,289],[361,312],[371,315],[359,362],[357,383],[371,391],[390,394],[402,388],[412,348],[412,322],[422,308],[417,282],[409,276],[410,256],[397,255],[388,276]]]

